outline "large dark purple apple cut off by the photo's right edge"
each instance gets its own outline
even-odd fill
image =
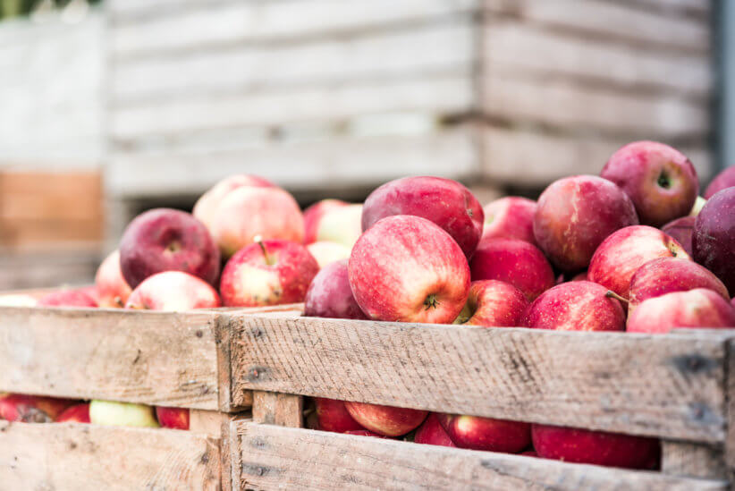
[[[692,250],[697,263],[717,275],[735,297],[735,187],[707,200],[694,223]]]

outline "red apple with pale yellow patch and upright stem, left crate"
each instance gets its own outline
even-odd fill
[[[227,307],[258,307],[304,301],[319,272],[306,247],[280,239],[239,250],[225,265],[219,290]]]

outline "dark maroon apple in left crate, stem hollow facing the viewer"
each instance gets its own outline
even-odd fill
[[[215,284],[220,254],[207,227],[194,216],[156,208],[133,218],[122,233],[120,267],[133,289],[163,271],[183,271]]]

